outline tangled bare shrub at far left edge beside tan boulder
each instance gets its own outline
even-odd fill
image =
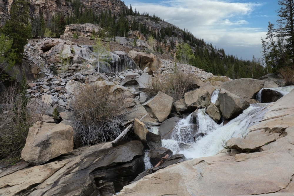
[[[42,118],[42,115],[34,115],[27,110],[29,98],[24,92],[19,93],[16,85],[1,92],[0,160],[5,158],[5,162],[19,159],[29,128]]]

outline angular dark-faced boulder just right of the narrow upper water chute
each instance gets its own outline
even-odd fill
[[[249,102],[239,96],[221,89],[218,94],[220,111],[225,119],[235,118],[249,107]]]

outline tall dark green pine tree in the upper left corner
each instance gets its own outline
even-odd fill
[[[16,52],[16,63],[21,63],[24,46],[31,37],[31,24],[29,20],[29,1],[15,0],[11,5],[11,19],[7,20],[0,32],[13,41],[11,49]]]

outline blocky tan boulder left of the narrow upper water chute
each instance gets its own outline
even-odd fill
[[[206,107],[210,104],[210,94],[207,90],[203,89],[185,93],[184,98],[187,108],[190,110],[195,110],[199,105]]]

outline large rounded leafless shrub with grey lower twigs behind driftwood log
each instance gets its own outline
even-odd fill
[[[75,127],[83,144],[114,140],[123,123],[124,96],[111,92],[109,86],[80,84],[74,92],[71,107],[76,115]]]

